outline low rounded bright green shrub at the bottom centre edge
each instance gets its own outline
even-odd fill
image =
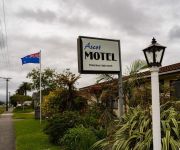
[[[91,129],[76,127],[69,129],[61,139],[61,143],[68,150],[89,150],[92,144],[96,142],[96,136]]]

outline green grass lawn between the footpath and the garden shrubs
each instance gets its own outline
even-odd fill
[[[44,122],[40,125],[32,113],[15,113],[13,118],[16,118],[16,150],[60,150],[60,147],[49,143],[42,131]]]

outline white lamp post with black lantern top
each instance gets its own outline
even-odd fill
[[[151,45],[143,49],[151,71],[153,150],[161,150],[159,67],[162,63],[165,48],[165,46],[158,44],[156,39],[153,38]]]

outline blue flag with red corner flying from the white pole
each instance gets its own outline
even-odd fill
[[[21,58],[21,60],[22,60],[22,65],[27,64],[27,63],[39,64],[40,63],[40,52],[27,55],[27,56]]]

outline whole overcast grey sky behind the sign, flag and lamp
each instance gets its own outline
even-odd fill
[[[35,64],[21,65],[21,57],[42,50],[42,66],[78,74],[79,35],[119,39],[123,72],[152,38],[167,46],[163,65],[180,62],[180,1],[178,0],[4,0],[7,47],[0,0],[0,76],[11,77],[13,94]],[[3,33],[3,34],[2,34]],[[82,75],[78,87],[95,83],[96,75]],[[0,98],[5,99],[0,79]]]

